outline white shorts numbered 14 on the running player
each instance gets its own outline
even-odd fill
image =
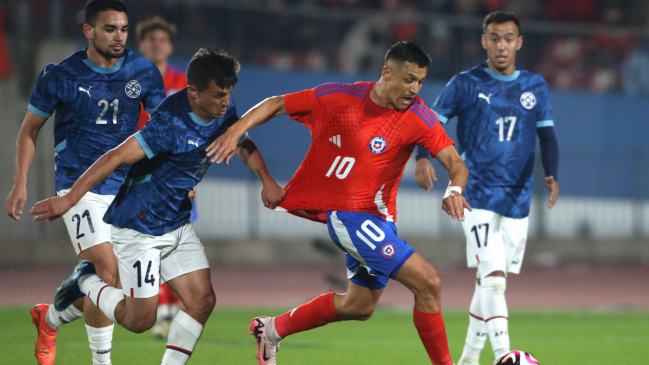
[[[114,226],[111,233],[122,290],[132,298],[156,296],[160,284],[210,267],[203,244],[189,223],[162,236]]]

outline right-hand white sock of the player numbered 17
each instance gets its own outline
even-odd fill
[[[494,355],[509,351],[508,312],[505,301],[507,281],[503,277],[488,276],[480,281],[480,303]]]

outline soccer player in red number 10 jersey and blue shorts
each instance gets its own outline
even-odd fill
[[[432,364],[452,364],[441,280],[433,265],[397,236],[395,225],[399,181],[416,145],[449,171],[442,209],[460,221],[463,209],[471,210],[462,196],[468,170],[436,115],[417,96],[429,65],[421,48],[399,42],[387,52],[379,81],[325,84],[266,99],[207,148],[212,162],[228,163],[238,138],[277,115],[288,114],[307,126],[313,142],[280,207],[326,222],[346,254],[347,293],[323,294],[279,317],[253,319],[249,329],[257,339],[260,364],[276,364],[279,341],[288,335],[369,319],[389,279],[415,295],[415,327]]]

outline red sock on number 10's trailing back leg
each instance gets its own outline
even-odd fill
[[[277,329],[279,337],[285,338],[294,333],[340,321],[336,308],[334,308],[334,294],[322,294],[312,301],[275,318],[275,329]]]

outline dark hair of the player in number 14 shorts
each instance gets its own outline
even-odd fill
[[[187,83],[198,91],[207,90],[214,81],[222,88],[237,84],[239,61],[222,49],[203,47],[196,52],[187,66]]]

